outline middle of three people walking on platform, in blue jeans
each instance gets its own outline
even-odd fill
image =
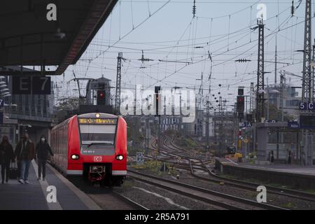
[[[29,139],[28,134],[23,134],[22,139],[15,147],[15,155],[20,162],[20,183],[29,183],[29,166],[35,158],[34,143]]]

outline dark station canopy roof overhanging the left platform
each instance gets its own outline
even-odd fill
[[[57,66],[45,75],[60,75],[76,64],[108,18],[117,0],[0,1],[0,67]],[[57,20],[46,18],[54,3]],[[43,74],[34,71],[34,75]],[[18,71],[1,71],[15,75]],[[24,74],[24,73],[23,73]]]

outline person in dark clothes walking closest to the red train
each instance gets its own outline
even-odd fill
[[[36,155],[37,155],[37,164],[38,164],[38,179],[37,179],[38,181],[41,180],[41,175],[43,176],[43,181],[45,181],[46,162],[48,159],[48,153],[51,156],[54,156],[48,142],[46,141],[45,135],[42,135],[41,140],[36,145]]]

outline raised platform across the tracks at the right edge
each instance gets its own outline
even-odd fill
[[[216,169],[240,179],[255,179],[290,188],[311,190],[315,188],[315,166],[302,165],[253,165],[216,159]]]

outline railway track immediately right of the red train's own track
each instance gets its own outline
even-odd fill
[[[170,190],[174,193],[179,193],[180,195],[185,195],[191,197],[195,200],[200,200],[202,202],[207,202],[209,204],[216,205],[223,209],[232,210],[248,210],[248,209],[268,209],[268,210],[286,210],[281,207],[276,207],[270,204],[258,203],[252,200],[246,200],[241,197],[236,197],[233,195],[228,195],[225,193],[219,193],[214,190],[209,190],[206,188],[200,188],[197,186],[192,186],[186,183],[181,183],[178,181],[172,181],[168,179],[162,179],[157,176],[151,176],[149,174],[143,174],[141,172],[135,172],[133,170],[128,170],[128,175],[137,181],[144,183],[149,183],[153,186],[159,188],[164,188]]]

